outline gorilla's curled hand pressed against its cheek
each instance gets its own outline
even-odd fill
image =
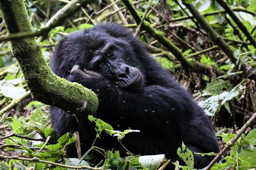
[[[75,65],[72,68],[70,76],[68,76],[68,81],[77,82],[86,88],[92,89],[94,92],[99,88],[108,85],[108,80],[101,74],[91,70],[82,71],[80,68],[79,65]]]

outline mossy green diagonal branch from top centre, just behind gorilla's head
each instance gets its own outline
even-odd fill
[[[140,15],[137,13],[136,9],[133,7],[132,3],[129,0],[122,0],[127,9],[132,14],[134,20],[136,21],[137,25],[140,24],[141,18]],[[164,45],[181,63],[185,68],[189,68],[193,72],[209,74],[211,73],[211,67],[207,65],[201,64],[194,59],[187,59],[181,53],[180,49],[175,46],[169,39],[164,36],[162,31],[157,31],[154,27],[150,25],[149,22],[143,21],[141,28],[146,30],[149,34],[151,34],[156,40],[158,40],[161,44]],[[224,71],[216,70],[216,75],[223,75],[225,74]]]

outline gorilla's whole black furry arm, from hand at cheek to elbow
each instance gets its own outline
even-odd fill
[[[179,85],[175,88],[149,85],[142,92],[135,92],[109,83],[98,73],[84,73],[78,69],[71,71],[68,80],[80,83],[99,95],[100,117],[115,118],[118,123],[122,123],[118,120],[122,117],[130,128],[139,129],[143,134],[167,137],[165,140],[170,146],[181,146],[179,141],[183,141],[192,152],[219,150],[217,143],[209,146],[216,139],[202,109]],[[205,165],[210,158],[194,154],[194,159],[198,165]]]

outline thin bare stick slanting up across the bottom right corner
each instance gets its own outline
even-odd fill
[[[236,133],[236,135],[230,139],[230,141],[228,141],[227,145],[225,146],[225,148],[223,148],[220,153],[218,153],[218,155],[212,160],[212,162],[205,168],[205,170],[210,170],[211,167],[213,166],[213,164],[215,164],[215,162],[217,162],[222,155],[228,151],[228,149],[230,149],[235,142],[237,141],[237,139],[244,133],[244,131],[250,126],[250,124],[256,120],[256,113],[254,113],[252,115],[252,117],[244,124],[244,126]]]

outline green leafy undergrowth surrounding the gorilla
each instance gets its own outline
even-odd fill
[[[68,0],[30,1],[26,0],[28,16],[33,30],[40,30],[47,25],[50,18],[69,3]],[[137,33],[145,43],[148,52],[164,68],[170,70],[177,81],[188,89],[209,115],[216,129],[216,137],[221,148],[235,136],[235,133],[256,112],[256,47],[248,41],[244,30],[237,26],[233,18],[227,14],[219,3],[214,0],[193,1],[133,1],[137,13],[142,17],[148,12],[144,21],[156,29],[155,34],[145,31],[145,26],[139,30],[134,20],[134,14],[125,7],[122,1],[102,1],[81,7],[72,17],[66,18],[49,33],[41,33],[37,41],[41,42],[44,58],[49,61],[51,51],[56,43],[65,35],[80,29],[87,29],[101,22],[116,22],[129,27]],[[220,44],[213,43],[211,33],[204,30],[199,20],[192,16],[184,5],[194,4],[197,11],[204,16],[207,23],[225,40],[228,47],[234,51],[232,57],[223,52]],[[228,0],[226,2],[235,12],[238,19],[255,40],[256,35],[256,0]],[[18,9],[17,9],[18,10]],[[2,17],[2,15],[0,16]],[[0,36],[7,35],[3,18],[0,24]],[[184,60],[174,56],[169,46],[159,37],[164,35],[180,49]],[[1,37],[0,37],[1,41]],[[196,65],[200,63],[201,65]],[[251,68],[248,72],[242,70],[246,63]],[[200,67],[209,67],[209,72],[202,72]],[[194,68],[195,66],[196,68]],[[133,155],[127,150],[127,157],[120,158],[119,151],[105,151],[94,145],[100,140],[101,133],[117,137],[120,144],[127,133],[140,133],[137,129],[127,129],[123,132],[114,130],[107,122],[89,116],[95,122],[97,134],[92,148],[81,155],[79,134],[69,132],[60,138],[56,137],[49,122],[49,106],[33,98],[23,77],[19,63],[13,57],[11,42],[0,42],[0,170],[7,169],[80,169],[86,167],[104,169],[164,169],[168,163],[180,168],[176,160],[169,161],[164,155],[141,156]],[[221,73],[221,74],[219,74]],[[26,92],[27,91],[27,92]],[[212,169],[253,169],[256,168],[256,127],[255,121]],[[76,146],[78,158],[68,158],[69,149]],[[125,146],[124,146],[125,148]],[[105,160],[90,162],[92,150],[103,154]],[[177,154],[187,164],[182,169],[193,169],[192,152],[185,144],[177,150]],[[202,154],[202,153],[198,153]],[[217,153],[207,153],[217,155]],[[10,159],[10,157],[12,159]],[[13,157],[14,156],[14,157]],[[40,162],[40,160],[48,162]],[[149,161],[151,160],[151,161]],[[52,162],[52,163],[51,163]],[[54,162],[62,164],[54,164]],[[66,166],[65,166],[66,165]],[[83,167],[82,167],[83,166]]]

